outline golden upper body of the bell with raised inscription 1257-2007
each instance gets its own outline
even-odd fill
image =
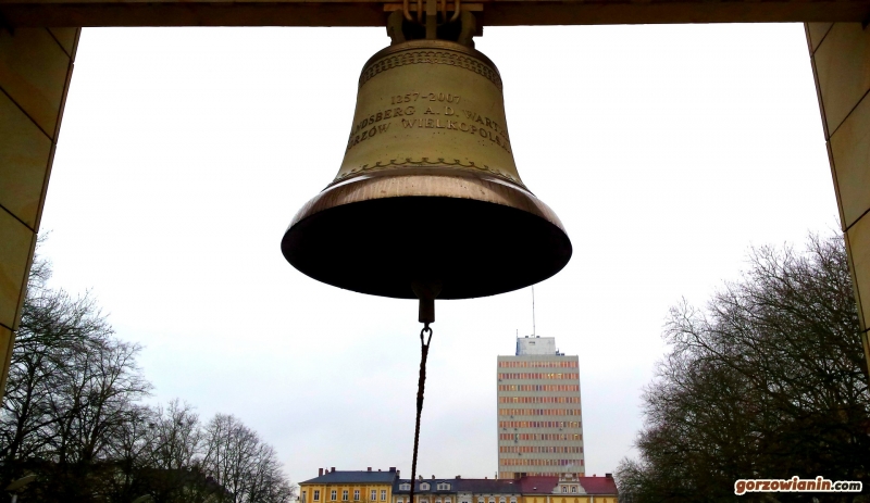
[[[513,162],[501,78],[485,56],[393,47],[362,72],[334,183],[380,169],[451,166],[524,187]],[[425,160],[425,161],[424,161]]]

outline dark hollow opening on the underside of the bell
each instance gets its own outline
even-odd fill
[[[564,228],[534,213],[480,199],[413,196],[311,213],[288,227],[281,250],[297,271],[326,285],[415,299],[413,281],[437,280],[444,300],[535,285],[558,274],[573,254]],[[420,264],[427,265],[417,274]]]

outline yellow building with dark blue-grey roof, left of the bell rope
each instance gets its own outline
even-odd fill
[[[393,501],[393,486],[398,477],[395,467],[387,471],[320,468],[316,478],[299,485],[299,503],[388,503]]]

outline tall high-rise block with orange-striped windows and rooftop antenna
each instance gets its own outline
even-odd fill
[[[583,420],[577,357],[552,337],[517,338],[498,356],[498,477],[583,477]]]

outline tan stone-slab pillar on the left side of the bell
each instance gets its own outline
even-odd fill
[[[0,24],[0,390],[42,216],[80,28]]]

